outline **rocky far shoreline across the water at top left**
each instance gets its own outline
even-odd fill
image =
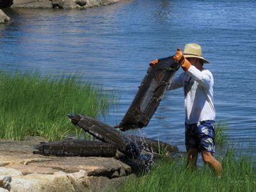
[[[0,0],[0,24],[8,22],[8,17],[1,8],[61,8],[85,9],[116,3],[120,0]]]

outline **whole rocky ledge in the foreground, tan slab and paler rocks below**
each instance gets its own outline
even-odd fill
[[[44,141],[0,141],[1,191],[109,191],[136,177],[131,166],[113,157],[56,157],[33,154]]]

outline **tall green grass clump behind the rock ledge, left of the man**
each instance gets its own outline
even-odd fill
[[[0,138],[44,136],[61,140],[77,132],[68,113],[95,118],[106,113],[111,95],[78,76],[42,77],[40,72],[0,71]],[[100,97],[99,97],[100,96]]]

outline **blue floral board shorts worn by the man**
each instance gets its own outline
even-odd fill
[[[186,150],[197,148],[198,152],[206,150],[215,152],[215,127],[214,120],[206,120],[198,124],[185,123]]]

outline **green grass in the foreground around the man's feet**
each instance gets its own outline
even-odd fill
[[[221,158],[223,175],[208,166],[196,171],[184,160],[161,159],[149,173],[125,182],[120,191],[256,191],[256,168],[252,159],[235,159],[234,148]]]

